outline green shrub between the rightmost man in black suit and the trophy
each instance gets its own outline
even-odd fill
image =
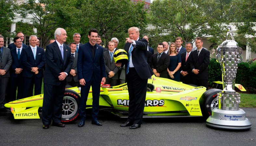
[[[216,61],[216,58],[211,58],[208,65],[208,84],[214,87],[213,81],[222,81],[221,64]]]

